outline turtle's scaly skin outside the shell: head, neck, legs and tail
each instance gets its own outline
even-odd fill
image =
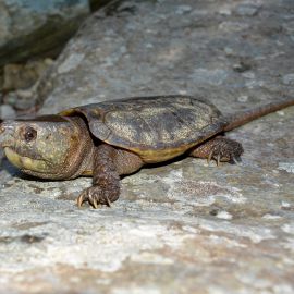
[[[222,117],[223,127],[219,133],[293,105],[292,98]],[[110,206],[115,201],[120,195],[120,175],[133,173],[145,164],[138,155],[96,139],[79,117],[47,115],[4,121],[0,124],[0,146],[11,163],[34,176],[68,180],[93,175],[93,186],[79,195],[77,205],[88,201],[95,208],[99,204]],[[189,156],[207,158],[208,161],[213,159],[218,164],[240,161],[242,154],[240,143],[221,136],[196,142],[188,151]]]

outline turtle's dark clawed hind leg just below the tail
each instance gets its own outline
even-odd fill
[[[194,157],[207,158],[208,163],[211,159],[220,162],[237,163],[241,161],[241,155],[244,149],[242,145],[233,139],[224,137],[216,137],[197,146],[192,150]]]

